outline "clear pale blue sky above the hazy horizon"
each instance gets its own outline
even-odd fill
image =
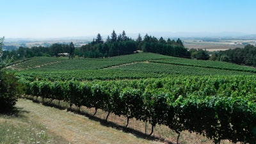
[[[256,34],[255,0],[3,0],[0,36],[57,38],[116,33]]]

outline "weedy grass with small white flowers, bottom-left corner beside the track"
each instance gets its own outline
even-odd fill
[[[0,143],[68,143],[30,115],[20,107],[10,115],[0,115]]]

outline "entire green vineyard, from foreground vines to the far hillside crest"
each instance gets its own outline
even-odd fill
[[[166,125],[178,134],[203,134],[214,143],[256,141],[255,68],[151,53],[31,58],[9,68],[25,94],[43,102],[63,100],[95,113],[102,109],[125,116],[127,125],[136,118],[150,123],[152,132]]]

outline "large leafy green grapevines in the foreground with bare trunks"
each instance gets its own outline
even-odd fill
[[[26,94],[204,134],[220,143],[256,141],[255,76],[169,77],[133,81],[20,81]],[[106,117],[108,120],[108,116]],[[127,126],[126,125],[126,126]],[[152,133],[151,132],[151,133]]]

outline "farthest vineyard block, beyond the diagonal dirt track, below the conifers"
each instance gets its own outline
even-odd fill
[[[172,59],[172,57],[152,53],[129,54],[126,56],[116,56],[104,59],[74,58],[72,60],[68,60],[68,58],[53,58],[41,56],[30,58],[29,60],[17,63],[16,65],[13,65],[12,68],[17,70],[28,69],[33,71],[52,71],[52,69],[95,70],[115,65],[122,65],[125,63],[132,63],[135,61],[147,61],[158,59]]]

